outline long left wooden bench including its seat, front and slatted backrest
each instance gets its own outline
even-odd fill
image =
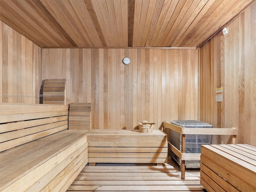
[[[0,191],[66,191],[88,162],[68,106],[0,104]]]

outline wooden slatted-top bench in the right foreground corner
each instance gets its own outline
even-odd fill
[[[208,192],[256,191],[256,147],[202,145],[200,183]]]

